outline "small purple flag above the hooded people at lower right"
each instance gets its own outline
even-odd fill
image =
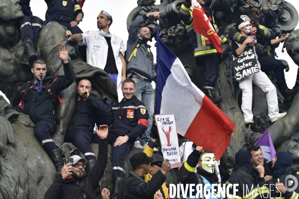
[[[267,163],[274,158],[276,151],[268,129],[263,133],[260,139],[255,143],[255,145],[259,145],[261,147],[264,158],[267,160]]]

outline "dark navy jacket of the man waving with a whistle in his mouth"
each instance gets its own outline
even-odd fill
[[[76,79],[75,72],[73,70],[72,64],[70,62],[63,64],[64,75],[53,77],[50,73],[46,73],[46,77],[42,80],[43,83],[49,81],[49,86],[51,88],[52,96],[55,101],[60,91],[68,88]],[[31,83],[34,85],[34,76],[33,74],[28,75],[31,78]],[[43,84],[44,85],[44,84]],[[38,122],[42,119],[53,119],[56,120],[56,102],[52,102],[49,98],[46,90],[42,90],[41,93],[38,93],[37,90],[28,92],[26,99],[24,100],[23,92],[26,85],[22,89],[22,100],[17,106],[16,111],[22,112],[29,115],[33,123]],[[23,105],[21,103],[23,102]]]

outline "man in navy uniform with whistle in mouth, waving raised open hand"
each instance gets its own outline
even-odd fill
[[[76,79],[72,64],[68,60],[68,48],[58,46],[58,57],[62,61],[63,76],[53,77],[47,72],[43,59],[36,59],[29,75],[31,81],[22,89],[22,99],[16,111],[29,115],[34,125],[34,134],[53,161],[57,173],[63,167],[63,160],[52,135],[57,129],[56,102],[58,93],[68,88]]]

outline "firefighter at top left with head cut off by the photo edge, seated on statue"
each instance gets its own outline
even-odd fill
[[[48,6],[46,20],[43,25],[50,21],[56,21],[65,26],[73,34],[83,33],[78,27],[83,18],[83,11],[78,0],[45,0]]]

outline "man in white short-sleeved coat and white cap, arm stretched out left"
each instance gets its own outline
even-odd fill
[[[87,46],[87,63],[103,69],[114,81],[119,101],[123,99],[122,82],[126,79],[125,44],[122,38],[109,32],[112,16],[102,10],[97,18],[98,31],[89,30],[83,34],[66,31],[68,40]]]

